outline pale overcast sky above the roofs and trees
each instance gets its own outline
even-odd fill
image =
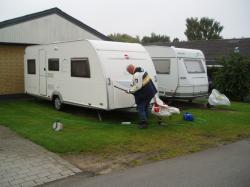
[[[224,38],[250,37],[249,0],[0,0],[0,21],[58,7],[103,34],[151,32],[186,40],[188,17],[209,17]]]

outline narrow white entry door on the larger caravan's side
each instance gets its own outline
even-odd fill
[[[47,95],[46,53],[44,49],[39,50],[39,94]]]

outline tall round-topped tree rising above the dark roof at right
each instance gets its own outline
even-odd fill
[[[186,19],[186,26],[184,34],[188,40],[222,39],[220,33],[224,27],[214,19],[191,17]]]

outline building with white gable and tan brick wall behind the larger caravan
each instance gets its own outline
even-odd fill
[[[24,50],[28,45],[110,38],[58,8],[0,22],[0,96],[24,92]]]

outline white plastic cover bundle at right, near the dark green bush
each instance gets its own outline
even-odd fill
[[[212,93],[210,94],[208,98],[208,103],[213,106],[218,106],[218,105],[229,106],[231,104],[229,99],[216,89],[212,90]]]

